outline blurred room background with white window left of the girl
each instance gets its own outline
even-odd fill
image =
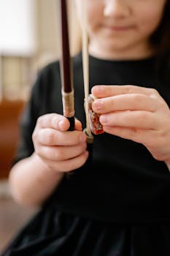
[[[80,50],[74,0],[68,0],[72,55]],[[60,57],[58,0],[0,0],[0,252],[38,209],[12,200],[8,176],[20,113],[39,69]]]

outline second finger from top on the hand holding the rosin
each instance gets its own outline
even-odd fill
[[[114,97],[96,99],[93,110],[96,113],[109,113],[122,110],[147,110],[154,112],[158,102],[144,94],[121,94]]]

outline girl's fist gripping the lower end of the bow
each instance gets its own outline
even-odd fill
[[[88,159],[86,136],[82,124],[75,121],[75,130],[67,132],[67,118],[52,113],[38,118],[33,133],[35,153],[48,169],[69,172],[82,166]]]

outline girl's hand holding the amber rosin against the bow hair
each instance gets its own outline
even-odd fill
[[[158,160],[170,162],[170,110],[155,89],[139,86],[94,86],[104,131],[142,143]]]

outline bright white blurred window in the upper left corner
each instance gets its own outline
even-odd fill
[[[28,56],[36,50],[34,0],[0,0],[0,53]]]

